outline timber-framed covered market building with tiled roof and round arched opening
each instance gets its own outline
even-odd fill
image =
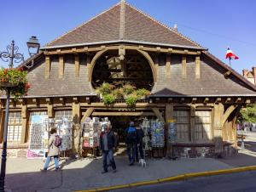
[[[165,122],[162,155],[233,155],[238,112],[256,99],[255,86],[207,48],[125,1],[57,37],[19,67],[28,71],[32,88],[11,99],[9,157],[26,157],[32,132],[41,134],[32,131],[32,116],[72,121],[73,153],[80,154],[84,142],[81,123],[108,117],[113,128],[134,119]],[[125,99],[106,105],[96,93],[103,82],[130,82],[150,95],[133,107]],[[1,97],[2,136],[5,102]]]

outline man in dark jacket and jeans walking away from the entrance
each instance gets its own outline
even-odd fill
[[[101,134],[100,138],[100,147],[102,150],[102,159],[103,159],[103,172],[108,172],[107,158],[113,169],[113,172],[116,172],[116,166],[113,159],[114,148],[116,147],[116,138],[112,130],[110,130],[110,125],[105,126],[104,132]]]

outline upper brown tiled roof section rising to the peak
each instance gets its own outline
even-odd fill
[[[114,5],[53,42],[49,42],[44,48],[119,40],[201,48],[188,37],[161,24],[128,3]]]

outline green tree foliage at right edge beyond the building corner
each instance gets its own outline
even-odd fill
[[[240,110],[237,119],[238,122],[253,122],[256,123],[256,104],[249,104],[246,108]]]

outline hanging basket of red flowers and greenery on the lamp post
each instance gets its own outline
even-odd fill
[[[22,71],[22,69],[0,69],[0,90],[9,89],[15,99],[21,98],[31,87],[27,82],[26,75],[27,71]]]

